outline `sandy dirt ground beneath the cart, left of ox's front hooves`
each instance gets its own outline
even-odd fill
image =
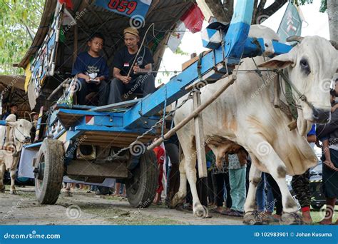
[[[242,225],[242,218],[210,213],[212,218],[200,219],[165,205],[132,208],[125,198],[84,190],[71,197],[62,192],[56,205],[40,205],[34,187],[17,189],[19,195],[0,193],[0,225]]]

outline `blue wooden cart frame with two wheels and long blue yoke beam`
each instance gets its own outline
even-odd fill
[[[277,41],[248,38],[253,2],[237,1],[230,24],[213,23],[205,30],[207,37],[203,44],[210,51],[201,54],[185,71],[144,98],[103,107],[76,106],[72,104],[75,78],[61,84],[64,90],[58,102],[48,110],[43,141],[25,148],[37,152],[26,163],[34,166],[39,203],[56,203],[63,176],[68,176],[86,183],[101,183],[105,178],[120,179],[126,183],[130,205],[148,207],[158,184],[158,167],[153,151],[147,150],[145,143],[156,136],[165,137],[163,123],[159,121],[170,115],[158,112],[165,111],[163,108],[192,89],[196,91],[226,76],[235,79],[230,75],[242,58],[265,54],[268,49],[274,51],[272,55],[290,51],[290,46]],[[61,6],[60,11],[63,8]],[[214,35],[219,36],[218,41],[210,41]],[[52,76],[57,75],[52,69],[50,71]],[[194,94],[196,111],[201,111],[199,94]],[[203,141],[201,134],[200,141]],[[202,154],[198,160],[203,162]]]

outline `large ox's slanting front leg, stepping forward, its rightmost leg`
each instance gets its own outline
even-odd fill
[[[255,135],[253,133],[253,135]],[[282,217],[283,224],[295,224],[301,222],[297,214],[297,204],[292,198],[289,188],[287,188],[287,168],[282,159],[277,155],[270,143],[265,141],[261,136],[251,136],[250,151],[255,152],[258,160],[267,168],[270,175],[275,179],[282,193],[282,204],[285,218]],[[299,221],[300,220],[300,221]]]

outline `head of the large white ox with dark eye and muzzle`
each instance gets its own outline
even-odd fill
[[[327,123],[331,117],[329,89],[338,67],[337,45],[319,36],[293,36],[288,41],[299,44],[260,67],[287,68],[290,82],[306,97],[307,102],[302,101],[292,91],[299,106],[297,128],[305,136],[312,123]]]

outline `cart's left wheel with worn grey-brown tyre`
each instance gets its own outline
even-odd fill
[[[41,204],[54,204],[58,200],[63,179],[63,154],[61,141],[43,140],[35,170],[35,194]]]

